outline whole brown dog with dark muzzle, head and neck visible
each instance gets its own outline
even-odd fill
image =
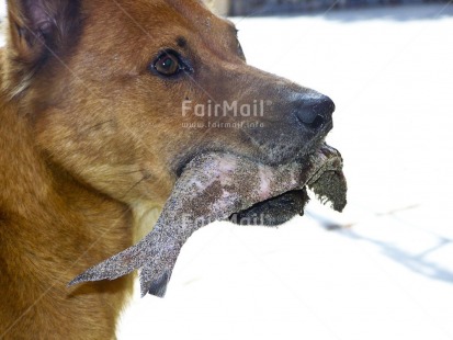
[[[152,226],[195,154],[288,161],[318,147],[335,106],[248,66],[234,25],[195,0],[8,4],[0,338],[111,339],[133,277],[68,282]],[[258,114],[196,106],[262,100]]]

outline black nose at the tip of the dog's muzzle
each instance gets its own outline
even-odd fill
[[[318,129],[331,122],[333,111],[333,101],[327,95],[316,93],[298,99],[295,114],[301,123]]]

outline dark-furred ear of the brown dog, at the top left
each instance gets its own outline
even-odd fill
[[[8,0],[8,15],[15,58],[35,65],[73,41],[80,26],[80,1]]]

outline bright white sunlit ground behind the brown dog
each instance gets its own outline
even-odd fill
[[[453,5],[236,19],[249,63],[329,94],[344,214],[215,224],[120,339],[453,339]]]

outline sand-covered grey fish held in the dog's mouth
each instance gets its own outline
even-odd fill
[[[213,222],[229,220],[257,204],[307,188],[322,203],[343,211],[348,188],[342,168],[341,154],[327,144],[302,160],[278,166],[233,154],[197,155],[178,178],[154,229],[135,246],[78,275],[69,286],[115,280],[139,270],[141,296],[163,297],[182,247]]]

